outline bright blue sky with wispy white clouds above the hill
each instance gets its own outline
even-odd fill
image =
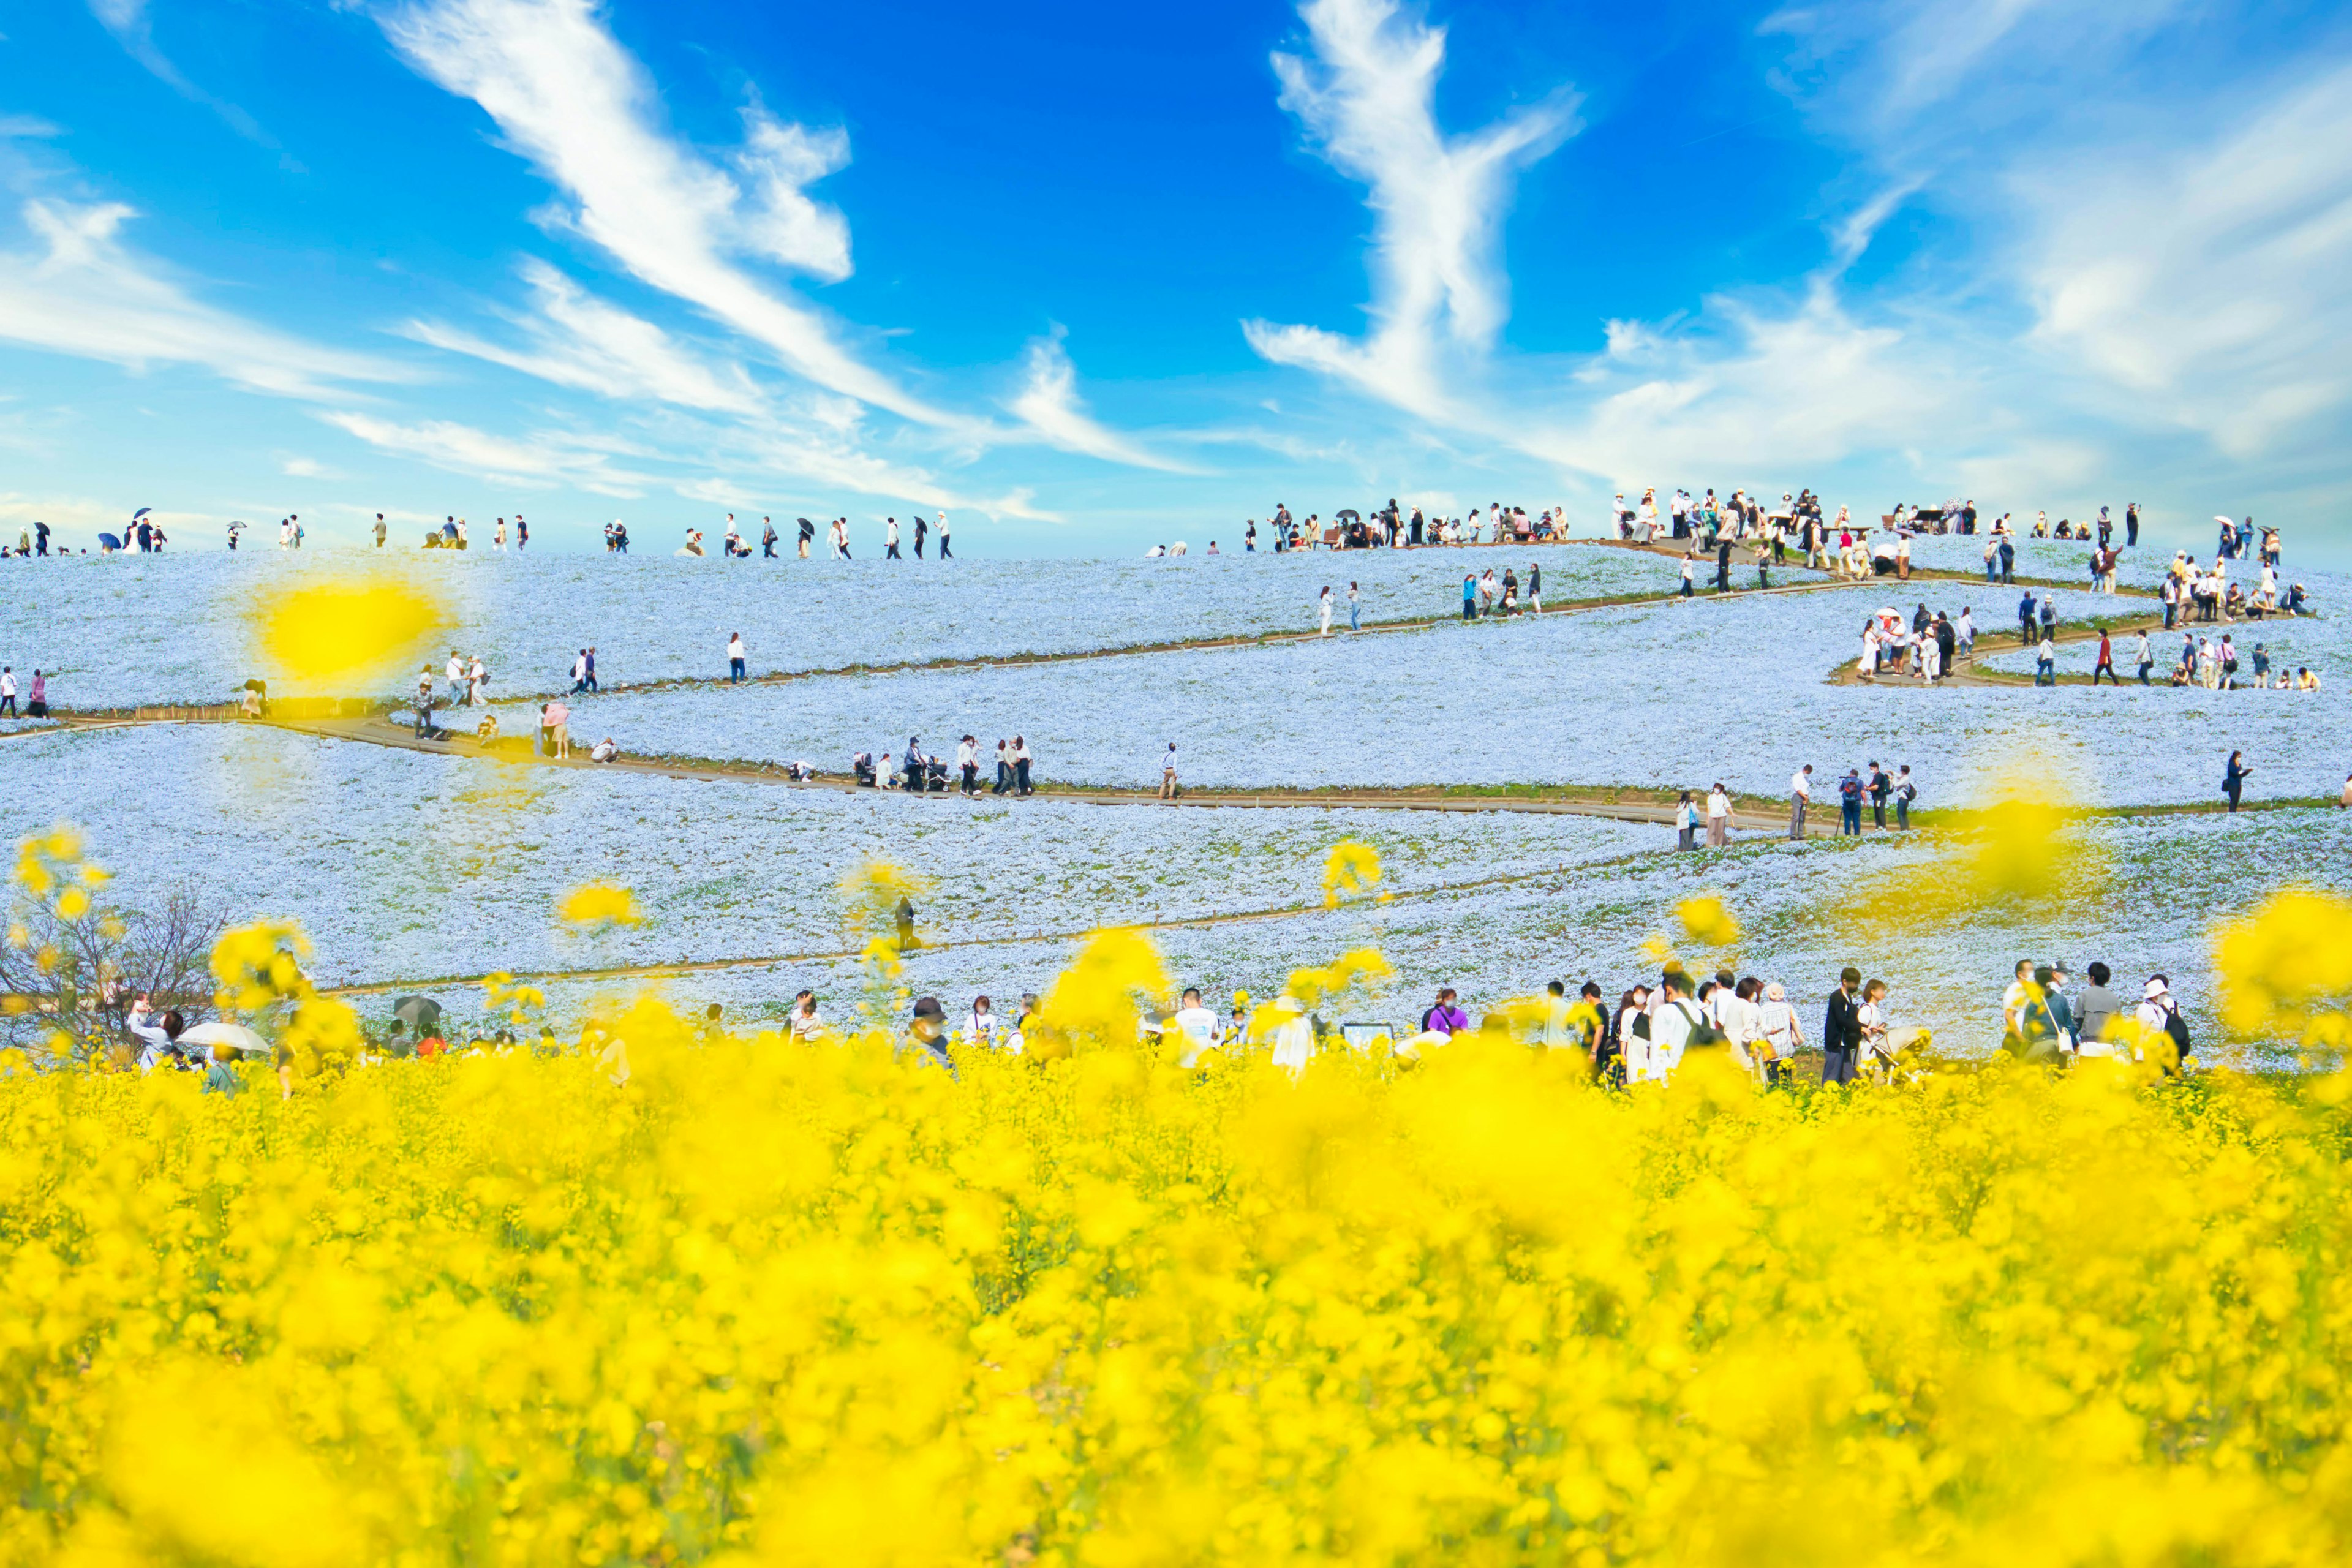
[[[2352,557],[2343,7],[0,19],[0,522],[964,552],[1813,484]]]

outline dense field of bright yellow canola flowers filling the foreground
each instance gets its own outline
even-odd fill
[[[2352,1556],[2326,1084],[593,1041],[0,1079],[0,1554]]]

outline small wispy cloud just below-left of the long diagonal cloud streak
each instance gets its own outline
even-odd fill
[[[522,263],[522,282],[532,289],[534,308],[508,315],[529,339],[522,348],[489,343],[442,322],[409,322],[407,331],[433,348],[600,397],[659,397],[729,414],[760,409],[760,390],[741,364],[696,357],[654,322],[595,299],[536,256]]]

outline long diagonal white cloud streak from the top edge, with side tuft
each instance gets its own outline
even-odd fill
[[[901,418],[953,425],[844,348],[814,308],[753,277],[757,256],[814,277],[849,270],[847,223],[802,186],[847,139],[746,115],[736,176],[659,127],[644,68],[588,0],[430,0],[383,16],[426,78],[473,99],[569,200],[569,223],[635,277],[767,346],[793,371]]]

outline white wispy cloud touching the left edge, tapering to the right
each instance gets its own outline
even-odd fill
[[[24,202],[35,242],[0,254],[0,339],[127,369],[198,364],[282,397],[336,397],[334,383],[397,381],[367,355],[322,348],[188,294],[158,261],[122,244],[122,202]]]

